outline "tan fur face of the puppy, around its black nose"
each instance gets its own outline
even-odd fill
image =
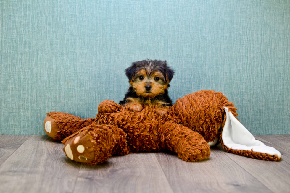
[[[158,71],[154,72],[149,68],[141,69],[139,72],[136,72],[130,84],[137,95],[148,98],[154,98],[164,93],[164,90],[168,87],[166,77],[164,77],[162,73]],[[146,89],[146,86],[150,86],[151,89]]]

